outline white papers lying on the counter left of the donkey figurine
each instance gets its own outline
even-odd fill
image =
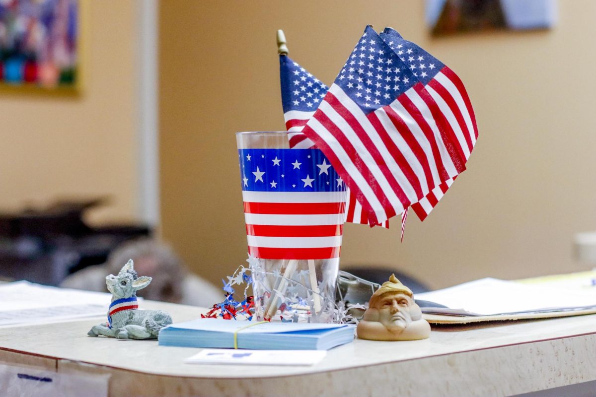
[[[107,315],[111,294],[26,281],[0,285],[0,326]]]

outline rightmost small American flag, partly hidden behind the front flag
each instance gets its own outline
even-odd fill
[[[408,65],[412,74],[424,85],[439,105],[440,111],[446,117],[448,127],[457,136],[465,160],[468,160],[478,137],[478,128],[470,98],[461,79],[454,71],[420,46],[403,39],[395,29],[386,27],[380,36]],[[423,199],[412,204],[412,210],[416,212],[420,220],[424,220],[430,214],[454,179],[446,180]]]

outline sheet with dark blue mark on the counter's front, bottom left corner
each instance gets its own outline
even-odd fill
[[[0,364],[3,396],[107,397],[110,374],[59,374],[39,368]]]

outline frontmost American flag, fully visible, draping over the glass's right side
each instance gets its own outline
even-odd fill
[[[370,26],[303,133],[333,162],[370,224],[465,170],[439,106]]]

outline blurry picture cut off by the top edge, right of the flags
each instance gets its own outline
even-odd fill
[[[426,22],[435,36],[485,30],[552,27],[555,0],[427,0]]]

